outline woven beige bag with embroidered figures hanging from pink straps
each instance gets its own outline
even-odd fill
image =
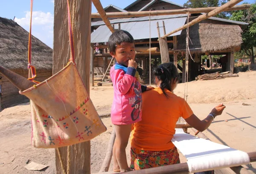
[[[70,8],[67,0],[70,34],[70,62],[57,74],[33,87],[20,91],[30,99],[32,114],[32,145],[37,148],[59,148],[88,141],[106,131],[74,60],[73,33]],[[36,77],[31,65],[31,19],[29,32],[29,65],[32,77]]]

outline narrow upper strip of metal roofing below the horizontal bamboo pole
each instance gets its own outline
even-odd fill
[[[186,17],[186,16],[187,16],[186,14],[151,16],[150,20],[160,20],[160,19]],[[127,22],[144,21],[144,20],[149,20],[149,17],[145,16],[145,17],[119,18],[119,19],[112,19],[109,21],[111,24],[113,24],[113,23],[127,23]],[[102,25],[105,25],[105,23],[102,20],[91,23],[91,26],[102,26]]]

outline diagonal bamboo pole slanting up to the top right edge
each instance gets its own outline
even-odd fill
[[[162,37],[162,39],[163,39],[163,38],[166,38],[167,36],[169,36],[169,35],[171,35],[171,34],[174,34],[174,33],[178,32],[178,31],[180,31],[180,30],[186,29],[188,26],[192,26],[192,25],[194,25],[195,23],[199,23],[201,20],[205,20],[205,19],[207,19],[207,18],[209,18],[209,17],[215,16],[216,14],[219,14],[219,13],[221,13],[222,11],[225,11],[225,10],[229,9],[229,8],[231,8],[232,6],[235,6],[237,3],[240,3],[241,1],[243,1],[243,0],[230,0],[229,2],[225,3],[224,5],[222,5],[222,6],[218,7],[218,8],[216,8],[216,9],[214,9],[214,10],[212,10],[212,11],[210,11],[209,13],[207,13],[207,14],[202,14],[202,15],[198,16],[198,18],[192,20],[192,21],[189,22],[188,24],[185,24],[184,26],[182,26],[182,27],[180,27],[180,28],[178,28],[178,29],[176,29],[176,30],[174,30],[174,31],[172,31],[172,32],[169,32],[168,34],[165,34],[165,35]],[[189,11],[187,11],[187,12],[190,13],[190,9],[189,9]]]

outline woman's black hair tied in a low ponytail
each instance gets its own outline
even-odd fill
[[[169,91],[172,91],[170,84],[172,82],[172,79],[175,79],[177,77],[177,81],[179,80],[179,74],[177,71],[176,66],[173,63],[163,63],[157,68],[154,69],[154,75],[157,77],[158,80],[161,80],[160,88],[163,91],[163,94],[166,94],[164,89],[168,89]]]

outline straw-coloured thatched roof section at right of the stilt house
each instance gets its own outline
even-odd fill
[[[236,25],[200,23],[189,27],[189,49],[192,52],[220,51],[240,46],[241,28]],[[186,30],[177,36],[177,49],[186,49]],[[197,49],[201,48],[201,49]]]

